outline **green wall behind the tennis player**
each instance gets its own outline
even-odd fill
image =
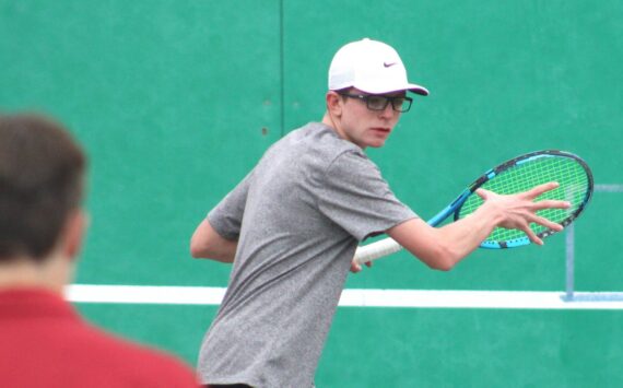
[[[623,4],[603,1],[0,0],[0,109],[68,125],[91,156],[92,227],[77,282],[225,286],[192,260],[205,213],[287,131],[324,113],[328,64],[372,37],[400,52],[416,98],[368,154],[432,216],[517,154],[581,155],[623,184]],[[575,228],[576,289],[623,290],[621,193]],[[449,273],[405,255],[349,287],[562,291],[562,236],[478,251]],[[78,306],[109,330],[196,361],[214,306]],[[340,308],[319,387],[619,387],[619,310]]]

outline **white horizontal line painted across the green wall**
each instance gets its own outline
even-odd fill
[[[219,305],[224,287],[72,284],[73,303]],[[623,293],[348,289],[342,307],[623,309]]]

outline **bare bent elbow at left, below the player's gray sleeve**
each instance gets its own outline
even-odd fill
[[[223,238],[208,219],[203,220],[190,239],[190,255],[196,259],[234,262],[238,242]]]

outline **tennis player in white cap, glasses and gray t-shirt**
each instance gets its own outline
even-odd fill
[[[552,188],[497,196],[472,216],[433,228],[402,204],[366,157],[383,146],[411,84],[398,54],[363,39],[342,47],[329,69],[321,122],[273,144],[198,226],[191,254],[233,262],[230,285],[205,334],[199,374],[210,387],[312,387],[358,242],[387,233],[427,266],[449,270],[495,226],[528,228],[534,214],[565,202],[533,199]]]

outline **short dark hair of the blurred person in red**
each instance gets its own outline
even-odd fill
[[[86,157],[60,124],[0,114],[0,260],[50,254],[81,205]]]

